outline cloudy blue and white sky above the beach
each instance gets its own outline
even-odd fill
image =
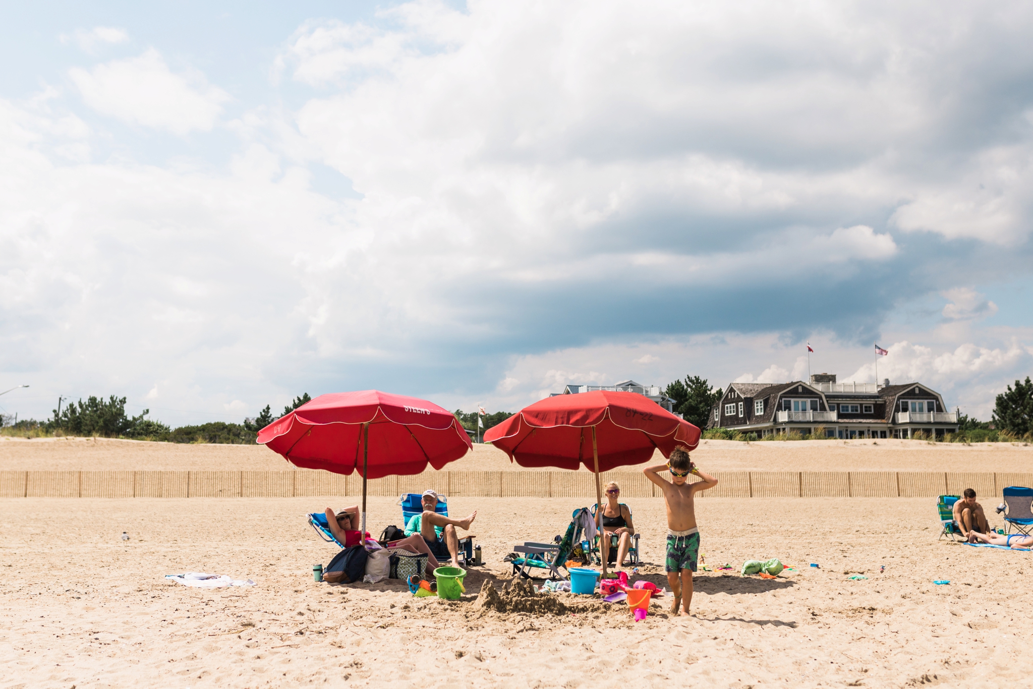
[[[0,413],[1033,375],[1029,3],[3,15]]]

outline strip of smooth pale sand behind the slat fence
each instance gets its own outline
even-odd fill
[[[710,471],[1031,471],[1033,445],[920,440],[703,440],[693,460]],[[659,452],[654,461],[662,463]],[[260,445],[155,443],[104,438],[0,438],[0,471],[288,471]],[[451,471],[522,470],[492,445],[447,465]],[[631,470],[629,467],[628,470]]]

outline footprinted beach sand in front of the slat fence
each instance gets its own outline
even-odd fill
[[[476,607],[486,581],[508,581],[515,541],[562,531],[582,506],[570,499],[452,498],[453,515],[478,510],[486,559],[462,601],[414,599],[394,581],[317,584],[312,564],[336,549],[304,513],[355,500],[0,500],[0,687],[999,687],[1033,676],[1033,555],[937,541],[930,499],[700,501],[707,564],[737,569],[697,574],[695,617],[657,605],[639,623],[624,605]],[[663,502],[627,502],[650,563],[640,573],[662,584]],[[398,510],[370,498],[370,531]],[[745,559],[772,557],[795,569],[738,575]],[[163,578],[185,571],[257,586]]]

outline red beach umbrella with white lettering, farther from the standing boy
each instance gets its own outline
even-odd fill
[[[259,444],[305,469],[366,479],[442,469],[473,449],[456,416],[427,400],[379,390],[320,395],[258,432]]]

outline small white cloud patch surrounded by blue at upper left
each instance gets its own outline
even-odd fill
[[[73,67],[68,74],[87,105],[123,122],[185,135],[209,131],[229,96],[194,72],[174,74],[154,49],[126,60]]]

